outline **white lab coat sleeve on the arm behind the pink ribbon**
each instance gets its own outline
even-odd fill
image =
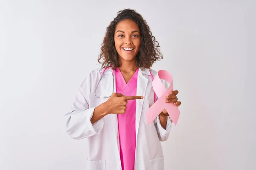
[[[164,80],[161,80],[161,81],[163,82],[163,85],[165,86],[166,89],[169,88],[169,85],[166,81],[164,81]],[[171,121],[170,116],[168,116],[168,119],[167,119],[166,129],[164,129],[161,126],[159,115],[157,116],[157,119],[156,119],[154,125],[156,127],[157,135],[159,137],[159,140],[161,142],[166,141],[169,138],[169,134],[170,134],[170,131],[172,129],[172,121]]]

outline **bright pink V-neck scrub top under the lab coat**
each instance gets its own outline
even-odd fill
[[[121,71],[116,68],[116,93],[125,96],[137,94],[138,69],[128,83],[125,82]],[[120,141],[120,159],[122,170],[134,170],[135,147],[136,147],[136,100],[128,100],[124,114],[118,114],[118,130]]]

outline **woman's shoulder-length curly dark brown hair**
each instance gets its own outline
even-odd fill
[[[136,56],[137,66],[140,68],[151,68],[154,62],[163,59],[160,52],[160,46],[156,38],[152,35],[147,22],[141,14],[134,9],[124,9],[117,13],[116,18],[111,21],[107,27],[105,37],[101,45],[101,53],[99,54],[98,62],[103,68],[120,67],[119,56],[115,48],[114,33],[116,25],[122,20],[132,20],[140,28],[140,50]],[[100,61],[102,59],[102,61]]]

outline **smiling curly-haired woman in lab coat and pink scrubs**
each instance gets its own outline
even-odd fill
[[[158,42],[136,11],[119,11],[107,28],[98,61],[81,84],[67,118],[67,133],[88,139],[87,170],[163,170],[161,141],[172,121],[164,109],[150,125],[145,113],[154,104],[150,69],[162,59]],[[167,83],[163,81],[166,88]],[[166,102],[179,106],[178,91]]]

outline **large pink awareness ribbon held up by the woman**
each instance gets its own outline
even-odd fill
[[[164,79],[170,83],[167,90],[160,79]],[[158,100],[146,112],[148,125],[154,121],[163,109],[166,109],[174,124],[177,125],[180,111],[176,105],[173,105],[173,103],[166,103],[166,96],[169,96],[169,93],[173,91],[172,74],[165,70],[159,70],[152,81],[152,86],[154,92],[157,94]]]

